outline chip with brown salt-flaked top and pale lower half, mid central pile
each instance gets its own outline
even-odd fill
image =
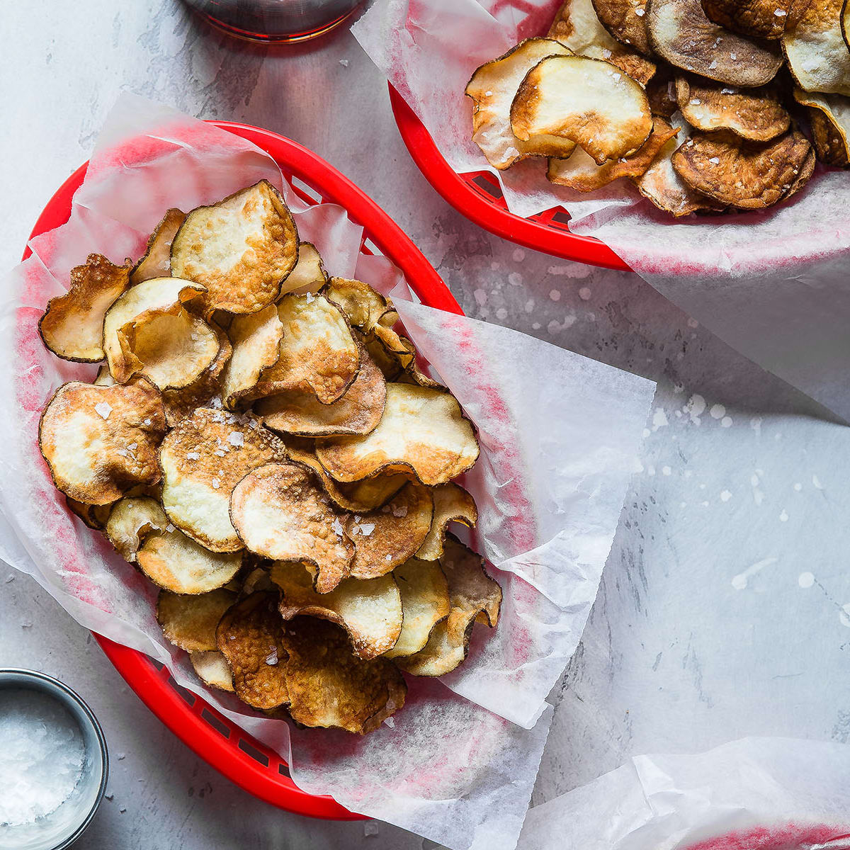
[[[212,552],[235,552],[230,494],[253,469],[285,460],[286,448],[256,420],[199,408],[167,434],[159,459],[168,519]]]

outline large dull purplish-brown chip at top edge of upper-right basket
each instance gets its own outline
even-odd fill
[[[730,86],[763,86],[782,67],[770,42],[753,42],[706,18],[700,0],[649,0],[646,14],[655,53],[683,71]]]

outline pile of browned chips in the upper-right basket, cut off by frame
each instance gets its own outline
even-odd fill
[[[816,159],[850,166],[848,45],[850,0],[566,0],[467,83],[473,140],[582,192],[628,178],[676,217],[763,209]]]

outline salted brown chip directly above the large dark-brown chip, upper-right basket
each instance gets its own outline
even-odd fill
[[[769,88],[728,88],[679,76],[676,96],[683,117],[698,130],[731,130],[742,139],[769,142],[791,127],[791,116]]]

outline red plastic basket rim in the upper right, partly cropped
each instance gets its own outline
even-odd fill
[[[439,152],[425,125],[392,85],[389,86],[389,102],[401,138],[428,183],[475,224],[534,251],[605,269],[632,270],[604,242],[593,236],[570,233],[570,216],[561,207],[552,207],[530,218],[510,212],[499,181],[489,171],[456,173]]]

